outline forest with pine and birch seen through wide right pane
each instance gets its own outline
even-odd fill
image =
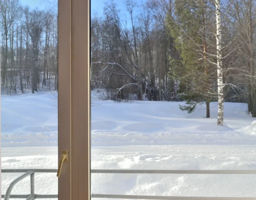
[[[113,0],[91,17],[92,88],[189,112],[206,103],[207,117],[212,101],[242,102],[256,117],[255,0],[125,2],[127,17]]]

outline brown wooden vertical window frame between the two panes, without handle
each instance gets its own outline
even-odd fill
[[[90,0],[58,0],[59,200],[90,199]]]

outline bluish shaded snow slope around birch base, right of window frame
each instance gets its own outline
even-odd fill
[[[210,104],[207,119],[204,105],[187,114],[179,109],[184,105],[180,102],[114,103],[98,100],[95,93],[92,97],[93,146],[256,144],[247,127],[255,119],[242,103],[224,103],[224,126],[216,126],[217,103]]]

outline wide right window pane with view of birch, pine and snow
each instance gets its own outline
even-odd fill
[[[114,173],[256,170],[255,8],[91,1],[93,197],[255,197],[255,174]]]

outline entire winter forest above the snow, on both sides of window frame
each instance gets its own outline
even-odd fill
[[[91,89],[105,100],[247,103],[256,117],[256,0],[106,1],[91,13]],[[58,91],[58,11],[0,0],[1,94]],[[61,67],[61,66],[60,66]]]

